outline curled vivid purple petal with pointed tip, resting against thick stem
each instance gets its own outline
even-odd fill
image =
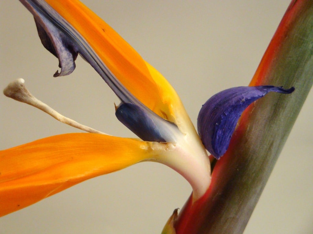
[[[227,150],[242,112],[269,92],[290,94],[295,90],[275,86],[235,87],[213,95],[198,115],[198,133],[205,148],[217,159]]]

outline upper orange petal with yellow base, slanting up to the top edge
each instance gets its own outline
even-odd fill
[[[150,65],[147,67],[141,56],[117,32],[80,1],[46,2],[85,38],[126,89],[157,115],[176,122],[174,112],[169,110],[180,103],[175,90],[161,74],[151,74],[155,69]]]

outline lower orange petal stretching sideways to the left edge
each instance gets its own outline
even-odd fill
[[[153,158],[149,142],[92,133],[56,135],[0,151],[0,216],[86,179]]]

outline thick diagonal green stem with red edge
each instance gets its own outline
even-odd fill
[[[243,113],[207,193],[187,201],[177,234],[243,233],[313,83],[313,2],[290,3],[250,85],[295,87],[268,94]]]

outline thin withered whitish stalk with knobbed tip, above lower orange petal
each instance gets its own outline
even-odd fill
[[[13,98],[14,100],[24,102],[28,105],[32,105],[32,106],[38,108],[39,110],[46,112],[47,114],[51,115],[54,119],[57,119],[64,124],[68,124],[72,127],[81,129],[81,130],[86,131],[86,132],[99,133],[99,134],[107,135],[103,132],[100,132],[98,130],[95,130],[95,129],[92,129],[92,128],[87,127],[85,125],[82,125],[80,123],[77,123],[73,119],[69,119],[69,118],[61,115],[60,113],[58,113],[57,111],[52,109],[47,104],[45,104],[42,101],[35,98],[27,90],[24,83],[25,83],[25,80],[23,80],[22,78],[14,80],[10,84],[8,84],[8,86],[3,90],[3,94],[6,95],[7,97]]]

